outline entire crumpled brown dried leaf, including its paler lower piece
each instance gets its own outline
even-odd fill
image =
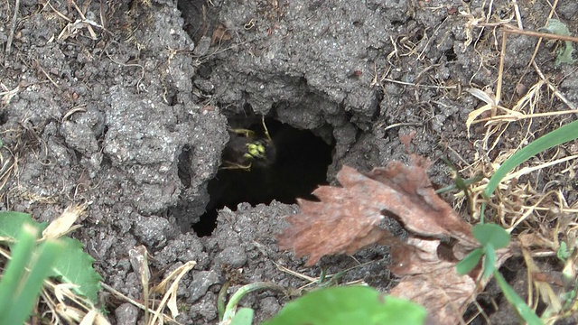
[[[478,244],[471,225],[433,190],[428,166],[417,155],[410,166],[393,162],[367,174],[344,166],[337,175],[341,188],[315,190],[320,202],[299,200],[302,213],[287,217],[292,227],[277,238],[279,246],[297,256],[309,255],[307,265],[323,255],[353,254],[374,243],[391,246],[391,271],[402,278],[391,293],[422,304],[433,323],[460,322],[485,283],[478,279],[480,268],[460,275],[455,265]],[[378,227],[384,213],[409,231],[406,242]],[[501,265],[511,253],[502,249],[497,255]]]

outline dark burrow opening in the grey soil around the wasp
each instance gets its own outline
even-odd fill
[[[230,153],[231,149],[236,149],[232,146],[244,147],[247,151],[247,143],[264,144],[267,137],[259,116],[250,119],[234,116],[228,121],[231,130],[237,132],[229,131],[231,140],[223,153],[221,168],[209,182],[207,212],[192,227],[199,237],[210,236],[217,227],[219,209],[236,210],[242,202],[255,206],[269,204],[272,200],[287,204],[294,203],[297,198],[314,200],[312,190],[327,184],[333,146],[312,131],[299,130],[274,118],[266,118],[266,129],[273,143],[263,147],[266,159],[240,158],[231,162],[236,158]],[[251,130],[254,134],[249,139],[240,129]],[[249,164],[250,168],[247,168]]]

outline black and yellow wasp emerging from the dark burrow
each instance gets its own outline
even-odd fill
[[[250,172],[252,167],[267,167],[275,161],[275,144],[261,119],[263,134],[249,129],[229,129],[228,144],[223,151],[221,169]]]

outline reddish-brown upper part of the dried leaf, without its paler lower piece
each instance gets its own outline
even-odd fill
[[[287,218],[293,227],[278,237],[279,246],[297,256],[310,255],[307,265],[313,265],[323,255],[353,254],[373,243],[395,241],[378,228],[384,211],[417,235],[455,237],[475,246],[470,225],[435,194],[420,165],[424,161],[414,160],[412,166],[393,162],[367,175],[343,166],[337,174],[342,188],[322,186],[313,191],[321,202],[298,201],[302,213]]]

